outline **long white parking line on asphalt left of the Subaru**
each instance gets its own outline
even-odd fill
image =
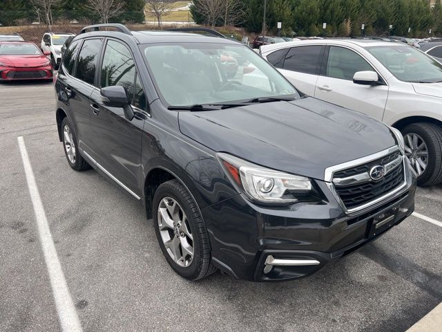
[[[52,294],[54,295],[61,329],[65,332],[81,332],[82,329],[77,311],[75,311],[75,306],[68,290],[68,284],[66,284],[66,279],[64,279],[54,241],[52,241],[48,219],[46,219],[43,203],[41,203],[37,183],[35,182],[34,173],[30,165],[28,151],[26,151],[23,137],[19,136],[17,140],[19,141],[21,159],[23,160],[30,199],[34,208],[35,220],[37,221],[41,248],[43,250],[44,260],[46,261],[46,267],[48,268],[50,286],[52,287]]]

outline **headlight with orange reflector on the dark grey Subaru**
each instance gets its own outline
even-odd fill
[[[231,181],[253,201],[289,204],[316,196],[309,178],[267,169],[229,154],[216,155]]]

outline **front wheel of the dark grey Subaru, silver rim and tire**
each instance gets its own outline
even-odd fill
[[[198,280],[215,272],[200,210],[179,181],[162,183],[155,191],[153,223],[164,257],[178,275]]]

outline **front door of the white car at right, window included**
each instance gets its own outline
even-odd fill
[[[376,70],[354,50],[342,46],[327,47],[314,96],[382,120],[388,86],[379,74],[376,86],[356,84],[353,76],[358,71]]]

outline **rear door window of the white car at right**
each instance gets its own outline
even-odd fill
[[[318,75],[320,54],[323,46],[298,46],[292,47],[284,60],[284,69]]]

